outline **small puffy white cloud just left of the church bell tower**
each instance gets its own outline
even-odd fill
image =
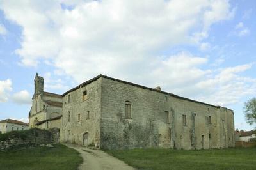
[[[17,104],[28,104],[31,105],[31,95],[28,91],[22,90],[17,93],[14,93],[12,96],[13,102]]]

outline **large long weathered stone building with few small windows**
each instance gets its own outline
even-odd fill
[[[232,110],[159,87],[98,75],[65,92],[61,99],[62,142],[111,149],[234,146]]]

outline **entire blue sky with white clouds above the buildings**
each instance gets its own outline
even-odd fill
[[[36,72],[63,94],[99,75],[234,110],[256,96],[256,1],[0,1],[0,120],[28,122]]]

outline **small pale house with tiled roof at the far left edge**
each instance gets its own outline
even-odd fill
[[[6,132],[11,131],[19,131],[19,130],[28,130],[29,126],[28,123],[24,123],[19,120],[0,120],[0,134],[4,134]]]

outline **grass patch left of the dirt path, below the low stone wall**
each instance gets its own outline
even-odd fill
[[[0,169],[77,169],[83,159],[62,144],[54,148],[16,148],[0,151]]]

